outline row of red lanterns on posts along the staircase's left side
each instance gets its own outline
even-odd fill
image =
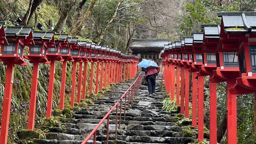
[[[79,62],[77,102],[80,102],[80,99],[81,99],[82,86],[83,86],[82,99],[85,99],[87,62],[91,62],[91,81],[90,81],[89,94],[93,93],[92,79],[93,79],[94,62],[97,62],[97,71],[96,71],[97,76],[96,76],[96,90],[95,90],[96,94],[98,93],[98,89],[99,89],[98,85],[99,85],[99,63],[100,62],[101,62],[100,90],[102,90],[102,86],[103,86],[104,62],[105,62],[104,87],[107,86],[106,84],[107,79],[108,79],[108,86],[111,83],[122,82],[122,73],[124,73],[123,80],[125,80],[125,78],[126,80],[128,79],[130,80],[136,75],[136,72],[137,72],[136,64],[139,61],[138,56],[126,55],[121,53],[121,51],[111,49],[110,47],[95,45],[92,43],[88,43],[85,40],[78,40],[78,38],[73,38],[73,37],[69,38],[68,34],[56,34],[55,32],[39,32],[39,31],[32,31],[33,27],[4,27],[4,25],[5,25],[5,22],[0,22],[0,45],[1,45],[0,61],[4,62],[4,64],[7,65],[5,93],[4,93],[4,101],[3,101],[3,113],[2,113],[2,122],[1,122],[0,144],[7,143],[12,84],[14,79],[14,64],[27,65],[27,62],[25,62],[25,60],[23,59],[25,46],[29,47],[28,49],[29,51],[28,51],[28,54],[24,56],[24,58],[30,60],[30,63],[33,63],[34,65],[33,76],[32,76],[31,98],[30,98],[30,113],[29,113],[29,122],[28,122],[28,129],[31,129],[31,130],[34,129],[39,63],[50,64],[47,117],[51,117],[55,61],[63,62],[61,93],[60,93],[60,109],[61,110],[64,107],[64,99],[65,99],[65,81],[66,81],[67,61],[73,62],[71,106],[74,106],[74,99],[75,99],[77,62]],[[84,82],[82,85],[83,62],[84,62]],[[127,71],[125,71],[126,65],[127,65]],[[124,72],[122,72],[123,66],[124,66]],[[110,68],[111,68],[111,72],[110,72]]]

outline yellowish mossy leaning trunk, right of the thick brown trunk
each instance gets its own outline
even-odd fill
[[[90,2],[90,4],[89,4],[89,7],[88,7],[88,9],[87,9],[87,11],[86,11],[86,13],[85,13],[85,15],[84,15],[84,17],[83,17],[81,23],[80,23],[76,28],[74,28],[74,29],[72,30],[71,34],[73,34],[73,35],[78,35],[78,34],[80,34],[80,32],[82,32],[82,30],[84,29],[84,26],[85,26],[86,22],[87,22],[88,19],[89,19],[89,16],[91,15],[91,12],[92,12],[92,10],[93,10],[93,6],[95,5],[96,1],[97,1],[97,0],[91,0],[91,2]],[[80,4],[80,3],[79,3],[79,4]]]

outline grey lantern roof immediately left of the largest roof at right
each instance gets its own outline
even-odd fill
[[[220,39],[220,24],[201,24],[205,39]]]

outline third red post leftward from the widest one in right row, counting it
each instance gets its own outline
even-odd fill
[[[204,141],[204,77],[198,76],[198,142]]]

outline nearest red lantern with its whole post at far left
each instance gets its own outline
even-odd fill
[[[32,35],[33,27],[3,27],[5,22],[0,23],[1,53],[0,61],[7,65],[5,91],[3,99],[3,112],[1,122],[0,143],[6,144],[10,120],[10,107],[12,99],[12,84],[14,79],[14,64],[27,65],[23,60],[25,46],[34,46]],[[5,36],[6,34],[6,36]],[[6,40],[8,39],[8,42]]]

